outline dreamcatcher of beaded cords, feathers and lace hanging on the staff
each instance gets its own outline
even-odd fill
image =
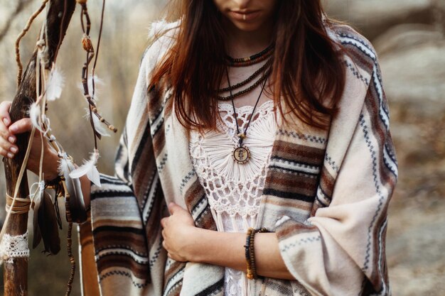
[[[70,18],[73,14],[75,2],[80,6],[80,20],[82,27],[82,49],[85,51],[85,62],[81,67],[81,82],[82,92],[85,102],[87,103],[87,114],[85,117],[90,121],[92,127],[92,136],[94,137],[94,148],[90,153],[90,157],[84,160],[84,163],[76,168],[73,158],[66,153],[63,146],[60,144],[53,129],[50,126],[50,119],[46,115],[48,111],[48,103],[60,99],[63,87],[65,84],[65,78],[61,74],[57,65],[58,50],[63,40],[63,36],[70,22]],[[33,13],[29,19],[26,27],[22,33],[18,36],[16,41],[16,60],[18,63],[18,97],[21,96],[20,92],[23,89],[24,84],[30,83],[35,77],[35,85],[31,87],[34,90],[34,94],[30,94],[28,97],[33,97],[35,100],[28,105],[26,114],[31,119],[33,128],[28,138],[28,148],[26,153],[23,153],[23,160],[18,173],[13,172],[13,177],[16,177],[14,188],[10,187],[9,192],[12,194],[6,194],[7,203],[7,216],[5,219],[4,227],[0,234],[0,260],[5,264],[11,264],[13,268],[19,268],[21,265],[20,258],[27,258],[29,256],[28,250],[28,233],[23,234],[9,234],[6,229],[11,229],[13,224],[12,220],[17,219],[17,215],[27,214],[30,209],[33,210],[33,248],[36,248],[38,244],[43,241],[44,252],[49,254],[55,254],[60,251],[60,238],[58,235],[58,228],[61,229],[61,219],[58,212],[58,199],[65,199],[66,220],[68,221],[68,256],[71,262],[71,273],[68,280],[67,295],[71,292],[71,285],[74,279],[75,273],[75,261],[71,250],[71,234],[73,228],[73,221],[80,223],[87,219],[87,211],[82,197],[82,190],[80,186],[80,177],[86,175],[88,179],[100,186],[100,176],[97,171],[97,160],[100,157],[99,149],[97,147],[97,139],[102,136],[107,136],[107,131],[116,132],[116,128],[109,124],[99,113],[97,108],[96,98],[96,83],[97,77],[95,76],[95,67],[97,65],[97,57],[100,48],[100,38],[102,35],[102,24],[104,18],[104,5],[105,0],[102,2],[102,14],[100,16],[100,28],[97,35],[96,46],[93,46],[93,41],[90,36],[91,21],[90,15],[87,9],[87,0],[43,0],[40,8]],[[60,14],[57,14],[57,9],[62,9],[63,13],[61,19],[50,22],[50,14],[56,13],[57,18],[60,18]],[[33,20],[42,11],[46,11],[46,21],[41,28],[38,41],[36,43],[36,53],[26,69],[26,73],[23,76],[23,67],[21,65],[19,43],[21,38],[26,34],[31,26]],[[54,23],[58,22],[58,36],[54,36]],[[57,38],[58,37],[58,38]],[[58,40],[57,45],[54,48],[51,41]],[[24,86],[26,87],[26,86]],[[23,94],[22,94],[23,97]],[[14,102],[11,108],[11,117],[13,114]],[[23,112],[22,112],[23,113]],[[22,114],[23,115],[23,114]],[[14,120],[14,119],[13,119]],[[43,147],[43,142],[48,141],[49,145],[58,153],[59,176],[50,182],[44,181],[43,175],[43,149],[41,150],[40,167],[38,173],[38,182],[31,185],[30,193],[27,188],[23,189],[23,184],[27,185],[26,181],[26,164],[28,161],[31,145],[35,134],[40,135],[40,141]],[[19,144],[19,143],[18,143]],[[23,149],[22,149],[23,150]],[[14,160],[6,160],[14,161]],[[8,163],[5,164],[8,169]],[[55,198],[53,199],[48,193],[48,189],[55,190]],[[16,215],[16,216],[14,216]],[[11,218],[14,216],[15,218]],[[19,219],[23,220],[22,215]],[[27,215],[26,215],[27,219]],[[14,223],[16,221],[14,220]],[[26,224],[25,224],[26,225]],[[23,231],[26,231],[26,227]],[[22,232],[23,232],[22,231]],[[12,231],[14,232],[14,231]],[[16,232],[16,231],[15,231]],[[20,232],[20,231],[19,231]],[[7,278],[7,275],[6,275]],[[5,283],[5,291],[7,290]],[[14,292],[11,292],[14,294]],[[12,295],[11,294],[11,295]],[[5,292],[5,295],[9,295]],[[16,294],[14,294],[16,295]]]

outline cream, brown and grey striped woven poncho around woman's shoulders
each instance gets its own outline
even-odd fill
[[[329,30],[348,53],[338,114],[328,130],[289,115],[298,130],[277,122],[257,222],[277,234],[295,280],[256,280],[250,295],[390,295],[385,234],[397,161],[387,100],[372,45],[348,26]],[[92,187],[90,223],[80,231],[84,292],[93,276],[103,296],[223,295],[224,268],[173,261],[161,244],[168,202],[186,207],[196,226],[216,229],[172,90],[148,89],[172,42],[166,33],[146,51],[116,175]]]

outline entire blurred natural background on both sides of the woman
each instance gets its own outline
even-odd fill
[[[99,27],[101,2],[88,2],[93,38]],[[350,23],[371,40],[379,55],[390,101],[391,131],[400,165],[387,233],[392,295],[443,296],[445,0],[324,2],[329,16]],[[0,101],[11,100],[15,93],[14,42],[28,16],[40,3],[37,0],[0,0]],[[99,106],[102,114],[120,131],[132,97],[139,60],[147,45],[149,23],[159,18],[164,3],[156,0],[107,1],[96,72],[103,82],[99,88]],[[56,136],[77,160],[87,158],[92,150],[89,125],[82,118],[86,104],[77,85],[84,58],[80,48],[79,13],[77,10],[70,23],[58,57],[66,77],[63,98],[50,104],[49,109]],[[33,51],[41,19],[36,20],[23,40],[23,61],[27,61]],[[112,173],[118,140],[119,136],[115,135],[100,142],[102,172]],[[4,182],[0,182],[0,192],[5,192]],[[3,198],[0,204],[4,204]],[[4,206],[0,207],[1,220]],[[41,248],[31,253],[29,295],[64,295],[69,275],[65,248],[52,257],[43,256]],[[76,278],[73,295],[80,295],[78,285]],[[1,287],[0,291],[3,291]]]

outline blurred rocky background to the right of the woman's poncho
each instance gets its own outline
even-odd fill
[[[400,167],[387,263],[395,296],[445,295],[445,0],[326,0],[379,55]]]

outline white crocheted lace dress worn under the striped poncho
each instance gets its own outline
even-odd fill
[[[218,106],[223,122],[218,121],[217,125],[222,132],[208,131],[202,135],[193,131],[190,154],[218,231],[246,232],[255,226],[264,189],[276,130],[274,103],[267,101],[255,110],[244,140],[251,153],[245,164],[232,159],[238,143],[232,105],[220,103]],[[240,131],[245,130],[252,110],[253,106],[236,109]],[[246,289],[245,273],[226,268],[225,295],[246,295]]]

